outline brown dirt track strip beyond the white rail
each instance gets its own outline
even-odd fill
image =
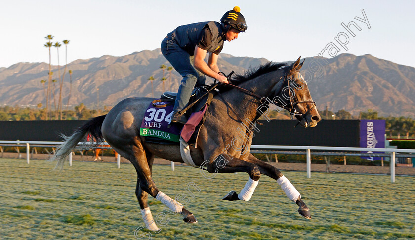
[[[3,153],[3,158],[18,158],[17,153]],[[26,153],[21,153],[21,158],[26,158]],[[48,159],[47,154],[33,154],[31,159]],[[75,155],[74,161],[93,161],[95,156],[82,156]],[[97,160],[97,162],[116,162],[114,157],[104,156],[103,160]],[[128,160],[121,158],[121,163],[129,163]],[[170,161],[164,159],[155,159],[154,164],[170,165]],[[289,171],[306,171],[307,166],[305,163],[285,163],[285,162],[272,162],[270,163],[277,167],[279,170]],[[175,163],[176,166],[185,165],[184,163]],[[415,176],[415,167],[396,167],[396,175],[413,175]],[[312,172],[326,172],[326,164],[311,164]],[[330,172],[344,172],[344,173],[370,173],[370,174],[389,174],[390,168],[388,166],[357,166],[357,165],[330,165]]]

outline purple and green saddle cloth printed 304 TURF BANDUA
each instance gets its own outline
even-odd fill
[[[140,136],[149,136],[180,142],[181,127],[171,122],[174,102],[154,100],[150,103],[140,127]]]

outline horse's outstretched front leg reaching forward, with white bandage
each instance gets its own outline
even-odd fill
[[[301,200],[300,193],[276,167],[255,158],[252,154],[248,155],[246,161],[257,165],[261,174],[265,174],[268,177],[277,180],[277,183],[284,190],[287,197],[299,206],[298,213],[307,219],[311,219],[310,209],[303,200]]]

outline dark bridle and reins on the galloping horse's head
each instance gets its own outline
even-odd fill
[[[287,106],[287,104],[283,104],[283,103],[279,103],[279,102],[274,102],[273,104],[276,105],[276,106],[278,106],[278,107],[280,107],[280,108],[283,108],[283,109],[289,111],[290,112],[291,119],[293,119],[294,117],[297,118],[297,116],[301,116],[300,118],[297,118],[297,120],[298,120],[297,125],[300,124],[301,120],[303,120],[303,119],[307,122],[307,124],[309,124],[309,122],[308,122],[308,120],[307,120],[307,118],[305,116],[311,111],[311,109],[313,109],[317,105],[316,105],[316,102],[314,102],[314,101],[295,101],[295,102],[292,101],[293,98],[295,98],[297,100],[297,97],[295,96],[295,93],[294,93],[293,90],[292,90],[292,92],[294,93],[294,96],[291,97],[291,89],[290,88],[292,88],[292,86],[290,86],[290,84],[297,84],[297,83],[295,83],[293,80],[291,80],[289,78],[289,76],[293,75],[295,72],[299,72],[299,71],[298,70],[288,70],[288,66],[285,66],[284,67],[284,81],[283,81],[283,84],[281,85],[281,88],[278,91],[278,95],[277,95],[277,96],[282,95],[280,97],[285,98],[285,100],[288,100],[286,97],[284,97],[284,94],[283,94],[283,91],[284,91],[285,87],[287,87],[288,92],[289,92],[289,99],[290,99],[289,106]],[[226,76],[228,78],[228,81],[230,81],[230,77],[232,76],[233,73],[234,72],[232,71],[228,76]],[[247,89],[244,89],[242,87],[233,85],[231,83],[219,83],[219,84],[225,85],[225,86],[229,86],[229,87],[232,87],[232,88],[235,88],[235,89],[237,89],[237,90],[239,90],[239,91],[241,91],[243,93],[246,93],[246,94],[248,94],[250,96],[253,96],[253,97],[259,99],[259,101],[260,101],[261,104],[267,102],[267,98],[266,97],[261,97],[261,96],[255,94],[255,93],[253,93],[251,91],[248,91]],[[285,84],[287,84],[287,86],[285,86]],[[297,84],[297,86],[298,86],[298,84]],[[222,98],[222,100],[224,100],[224,99]],[[224,101],[224,102],[226,104],[226,101]],[[298,112],[295,109],[295,106],[297,106],[298,104],[303,104],[303,103],[313,103],[313,106],[311,108],[309,108],[305,113],[302,114],[302,113]],[[267,108],[268,107],[269,106],[267,105]],[[254,120],[257,120],[259,117],[260,117],[260,114],[257,113],[257,115],[256,115],[256,117],[255,117]]]

